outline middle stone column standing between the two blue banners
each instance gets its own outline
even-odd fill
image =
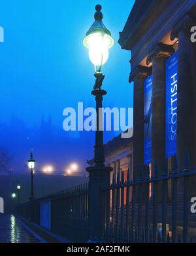
[[[147,58],[152,62],[152,175],[163,173],[165,160],[165,61],[174,53],[170,45],[158,43]],[[161,186],[156,188],[156,199],[161,200]]]

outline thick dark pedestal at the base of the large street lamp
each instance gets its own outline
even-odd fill
[[[110,186],[111,167],[93,166],[87,167],[89,173],[89,242],[103,241],[103,223],[104,223],[104,200],[103,190]]]

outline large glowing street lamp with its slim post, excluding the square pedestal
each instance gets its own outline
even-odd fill
[[[105,162],[105,153],[103,146],[103,129],[99,124],[99,108],[102,108],[103,95],[106,91],[101,89],[101,85],[105,75],[101,72],[101,67],[108,60],[108,50],[114,45],[114,39],[110,31],[102,22],[103,14],[101,5],[95,6],[95,22],[90,27],[84,38],[84,46],[89,50],[89,58],[95,66],[95,85],[92,95],[95,95],[96,111],[97,111],[97,130],[95,135],[95,166],[103,166]]]

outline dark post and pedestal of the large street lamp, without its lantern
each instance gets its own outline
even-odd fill
[[[97,129],[95,131],[95,154],[94,154],[94,167],[87,167],[90,176],[89,181],[89,223],[90,223],[90,240],[89,242],[103,241],[104,226],[108,223],[105,219],[105,205],[109,207],[109,194],[103,194],[103,189],[110,186],[110,171],[112,167],[105,166],[105,152],[103,144],[103,122],[102,122],[102,100],[106,91],[101,89],[101,83],[104,75],[95,73],[96,83],[94,90],[91,92],[95,95],[96,100],[96,113],[97,113]],[[98,77],[98,78],[97,78]]]

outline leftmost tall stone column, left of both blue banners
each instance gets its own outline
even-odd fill
[[[144,79],[151,69],[137,66],[129,77],[134,82],[133,95],[133,169],[135,179],[139,179],[140,168],[144,166]]]

